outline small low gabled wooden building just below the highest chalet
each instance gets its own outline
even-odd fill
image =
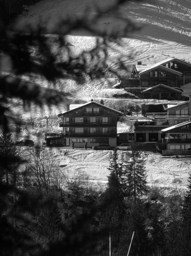
[[[177,96],[181,94],[180,90],[170,86],[159,84],[140,92],[142,99],[167,99],[177,100]]]

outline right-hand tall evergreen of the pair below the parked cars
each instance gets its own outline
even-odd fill
[[[123,173],[127,182],[127,193],[136,198],[141,194],[148,192],[145,161],[140,159],[140,152],[138,151],[137,143],[131,144],[131,151],[125,152],[130,157],[130,161],[123,162]]]

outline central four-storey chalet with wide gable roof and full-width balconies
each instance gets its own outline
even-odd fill
[[[117,122],[122,112],[91,101],[78,105],[58,117],[62,118],[60,127],[63,127],[62,141],[66,146],[74,142],[74,147],[82,148],[84,143],[88,147],[97,144],[117,145]]]

